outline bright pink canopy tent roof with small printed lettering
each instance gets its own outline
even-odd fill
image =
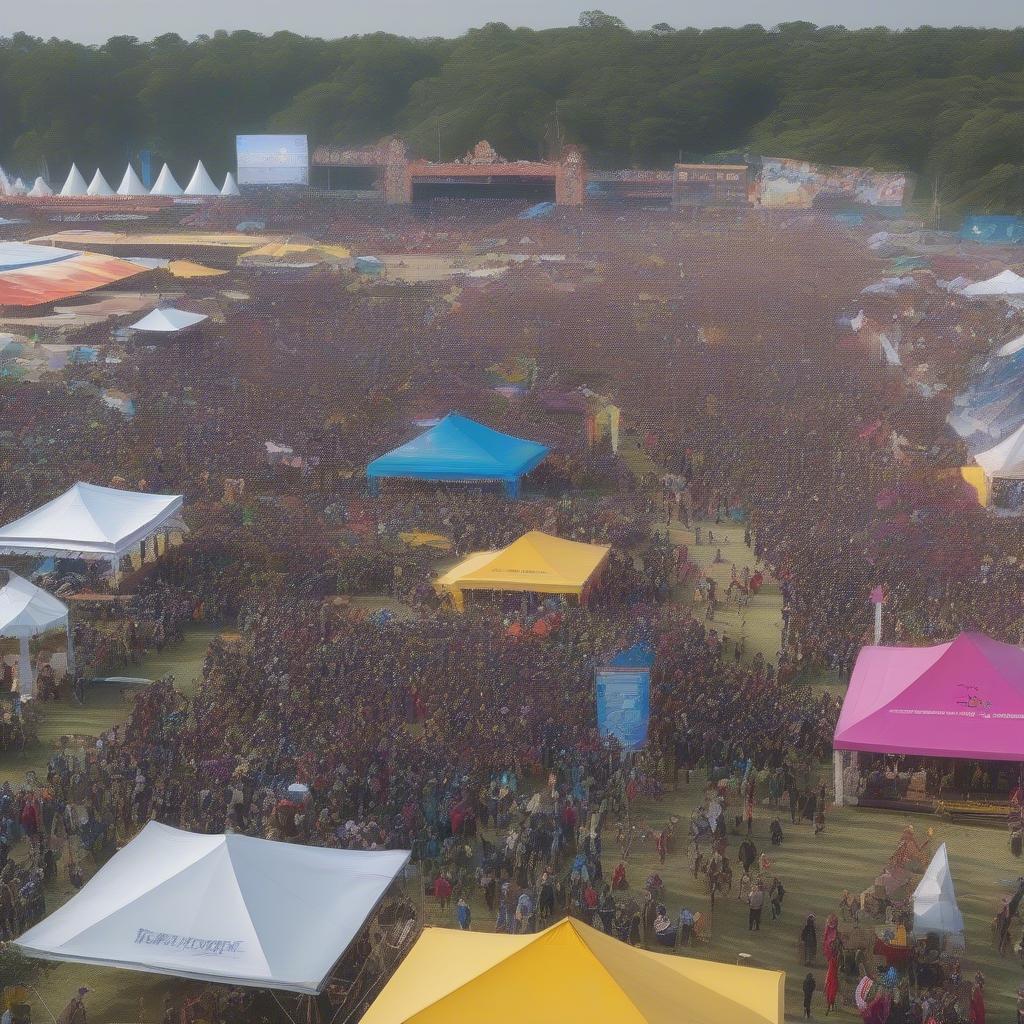
[[[1024,761],[1024,650],[980,633],[934,647],[864,647],[834,745]]]

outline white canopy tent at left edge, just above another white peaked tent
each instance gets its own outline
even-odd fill
[[[37,555],[110,561],[121,559],[161,530],[181,508],[180,495],[146,495],[76,483],[59,498],[0,526],[0,555]],[[173,528],[183,529],[174,524]]]

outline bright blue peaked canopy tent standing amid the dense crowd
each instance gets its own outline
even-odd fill
[[[375,459],[367,467],[372,494],[381,479],[500,482],[510,498],[519,480],[548,455],[545,444],[512,437],[450,413],[435,427]]]

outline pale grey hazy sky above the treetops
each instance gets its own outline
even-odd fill
[[[218,29],[335,38],[366,32],[403,36],[457,36],[487,22],[547,29],[574,25],[580,11],[598,7],[630,28],[659,22],[674,28],[707,29],[760,23],[841,23],[847,28],[887,25],[971,25],[1016,28],[1024,25],[1020,0],[0,0],[0,35],[28,32],[96,43],[110,36],[152,39],[165,32],[185,38]]]

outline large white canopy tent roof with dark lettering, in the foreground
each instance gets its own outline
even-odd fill
[[[15,944],[43,959],[316,994],[408,860],[151,821]]]

